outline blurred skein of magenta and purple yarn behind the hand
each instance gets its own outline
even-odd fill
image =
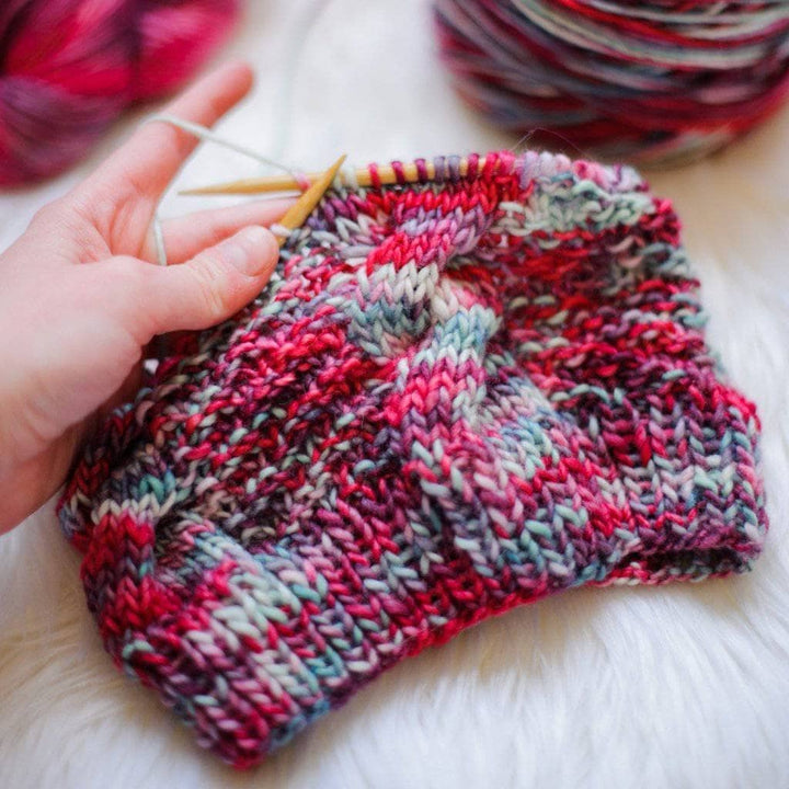
[[[228,34],[239,0],[4,0],[0,186],[55,175],[129,104],[174,91]]]

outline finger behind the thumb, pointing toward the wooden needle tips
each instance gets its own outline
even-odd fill
[[[293,205],[291,199],[256,201],[229,208],[196,211],[162,222],[164,250],[169,264],[183,263],[206,247],[213,247],[250,225],[267,226],[279,219]],[[153,232],[150,230],[140,258],[157,262]]]

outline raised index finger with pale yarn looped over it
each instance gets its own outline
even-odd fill
[[[229,64],[196,82],[162,113],[213,126],[251,85],[249,66]],[[163,122],[142,124],[83,184],[82,191],[127,194],[132,186],[153,205],[198,141],[194,135]]]

